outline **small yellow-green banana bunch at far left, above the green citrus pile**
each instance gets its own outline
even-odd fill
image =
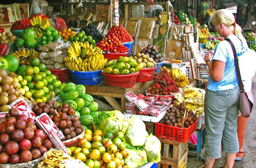
[[[25,48],[22,48],[21,50],[16,50],[12,55],[19,60],[19,65],[28,65],[30,59],[38,58],[39,52],[34,49],[25,50]]]

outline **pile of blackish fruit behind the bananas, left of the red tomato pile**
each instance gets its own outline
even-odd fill
[[[81,30],[84,31],[86,36],[91,36],[96,43],[102,41],[102,39],[104,38],[103,35],[99,32],[99,30],[96,28],[96,26],[93,24],[89,24]]]

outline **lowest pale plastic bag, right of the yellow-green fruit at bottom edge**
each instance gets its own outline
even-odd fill
[[[125,158],[125,165],[130,168],[140,167],[147,163],[147,153],[146,151],[140,149],[127,149],[129,151],[129,156]]]

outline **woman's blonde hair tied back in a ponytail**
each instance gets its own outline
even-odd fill
[[[225,9],[217,10],[212,14],[212,18],[210,19],[210,21],[212,21],[212,23],[214,24],[223,23],[226,26],[234,26],[235,35],[237,35],[239,39],[241,39],[241,41],[246,41],[243,34],[241,33],[242,30],[240,25],[235,23],[235,17],[232,12]]]

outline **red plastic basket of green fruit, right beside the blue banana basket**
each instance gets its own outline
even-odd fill
[[[136,83],[138,72],[132,74],[105,74],[104,75],[105,85],[116,86],[116,87],[133,87]]]

